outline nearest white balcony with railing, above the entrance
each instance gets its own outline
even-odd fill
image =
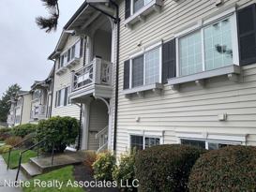
[[[83,102],[87,96],[110,98],[112,94],[112,63],[95,58],[88,66],[73,71],[71,102]]]

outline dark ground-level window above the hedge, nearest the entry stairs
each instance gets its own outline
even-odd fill
[[[133,149],[135,147],[137,150],[143,150],[148,147],[152,147],[152,146],[159,145],[159,144],[160,144],[159,138],[136,136],[136,135],[130,136],[130,148],[131,149]]]

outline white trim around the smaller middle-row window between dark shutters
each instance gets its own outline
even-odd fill
[[[157,43],[151,44],[147,47],[143,48],[143,51],[141,52],[136,52],[132,55],[129,56],[129,89],[136,89],[138,87],[132,87],[132,60],[138,56],[143,55],[143,85],[140,87],[146,86],[145,84],[145,53],[146,52],[151,52],[155,49],[159,49],[159,82],[157,83],[162,83],[162,40],[158,41]]]

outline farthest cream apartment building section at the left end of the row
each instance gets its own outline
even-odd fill
[[[10,99],[10,110],[8,113],[8,126],[19,126],[29,123],[31,95],[27,91],[20,91],[17,96]]]

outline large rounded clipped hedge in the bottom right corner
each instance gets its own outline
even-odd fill
[[[190,191],[256,191],[256,147],[230,146],[210,151],[195,163]]]

